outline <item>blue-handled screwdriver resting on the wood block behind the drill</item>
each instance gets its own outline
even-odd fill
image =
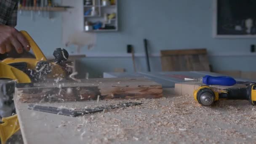
[[[222,76],[222,77],[213,77],[210,75],[205,75],[197,79],[193,78],[184,78],[185,81],[199,81],[206,85],[224,85],[231,86],[236,84],[236,80],[232,77]]]

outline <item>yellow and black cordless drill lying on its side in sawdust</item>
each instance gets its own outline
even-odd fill
[[[201,85],[194,91],[194,99],[203,106],[210,106],[219,99],[248,100],[256,105],[256,83],[250,83],[245,88],[213,88]]]

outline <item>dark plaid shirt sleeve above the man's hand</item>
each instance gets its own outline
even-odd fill
[[[17,24],[18,0],[0,0],[0,24],[15,27]]]

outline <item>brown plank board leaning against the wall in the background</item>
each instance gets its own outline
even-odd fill
[[[210,71],[206,49],[161,51],[162,71]]]

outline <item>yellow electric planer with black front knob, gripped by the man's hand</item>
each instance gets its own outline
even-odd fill
[[[43,78],[54,78],[54,77],[66,77],[67,72],[63,66],[61,66],[61,62],[67,61],[68,53],[63,48],[57,48],[53,56],[55,56],[55,61],[47,61],[45,55],[40,50],[38,45],[32,39],[32,37],[26,31],[20,31],[28,40],[32,52],[35,55],[35,59],[33,58],[7,58],[2,61],[2,63],[11,65],[21,71],[27,73],[33,82],[37,82],[42,80]],[[25,67],[25,68],[24,68]],[[45,75],[46,77],[41,77]],[[1,75],[0,75],[1,76]],[[12,74],[8,77],[12,77]]]

